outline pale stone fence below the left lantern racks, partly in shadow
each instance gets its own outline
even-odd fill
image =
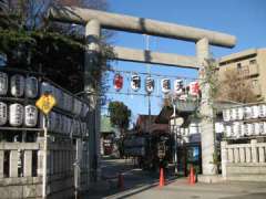
[[[89,186],[88,149],[79,163],[80,189]],[[48,145],[47,193],[49,198],[72,198],[76,147],[71,140]],[[0,143],[0,198],[41,198],[43,143]]]

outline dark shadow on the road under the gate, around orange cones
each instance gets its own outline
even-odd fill
[[[158,172],[146,171],[134,167],[131,160],[105,158],[102,164],[104,184],[86,192],[82,199],[117,198],[123,199],[158,186]],[[117,175],[123,175],[123,188],[117,186]],[[165,184],[174,180],[167,172]]]

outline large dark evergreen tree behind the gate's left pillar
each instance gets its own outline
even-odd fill
[[[42,72],[62,87],[79,93],[83,90],[83,81],[80,80],[83,80],[85,38],[43,27],[43,17],[50,2],[66,6],[83,2],[90,8],[106,9],[105,0],[0,0],[0,54],[7,55],[8,67]],[[38,10],[40,13],[35,13]],[[91,76],[94,87],[100,85],[104,88],[106,84],[102,74],[110,67],[113,53],[105,40],[99,42],[101,52],[95,59],[98,63]]]

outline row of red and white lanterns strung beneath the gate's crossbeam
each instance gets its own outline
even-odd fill
[[[123,76],[120,73],[114,75],[113,80],[114,90],[119,92],[123,88]],[[151,94],[153,93],[155,87],[155,81],[153,77],[147,76],[145,78],[145,91]],[[137,74],[131,75],[131,88],[134,92],[137,92],[141,88],[141,76]],[[161,88],[164,94],[168,94],[171,92],[171,80],[162,78],[161,80]],[[174,93],[177,95],[184,94],[184,91],[188,90],[188,93],[193,96],[197,96],[200,94],[200,84],[198,82],[191,82],[188,87],[184,86],[183,80],[174,81]]]

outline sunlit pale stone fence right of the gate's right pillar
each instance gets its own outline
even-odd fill
[[[266,143],[221,143],[222,175],[226,180],[266,181]]]

